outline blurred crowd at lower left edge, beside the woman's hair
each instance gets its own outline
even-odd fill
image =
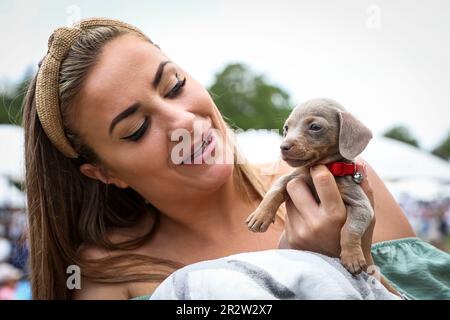
[[[22,208],[0,208],[0,300],[30,299],[27,218]]]

